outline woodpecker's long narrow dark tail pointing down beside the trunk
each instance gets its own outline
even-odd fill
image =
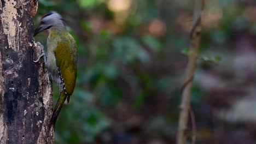
[[[65,91],[62,91],[59,95],[59,99],[54,107],[54,111],[53,111],[53,115],[51,115],[51,120],[50,120],[50,125],[55,125],[55,122],[57,120],[57,117],[60,114],[61,111],[61,107],[64,104],[65,100],[66,100],[66,94]]]

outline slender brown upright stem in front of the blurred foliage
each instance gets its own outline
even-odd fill
[[[188,53],[188,65],[185,74],[184,88],[182,89],[181,113],[179,115],[177,144],[186,143],[185,131],[187,130],[188,114],[190,110],[190,96],[194,73],[196,70],[196,61],[199,55],[199,43],[201,38],[201,15],[205,7],[204,0],[195,1],[193,26],[190,32],[190,51]],[[195,134],[195,133],[194,133]],[[193,137],[195,135],[193,134]],[[194,138],[195,140],[195,138]]]

